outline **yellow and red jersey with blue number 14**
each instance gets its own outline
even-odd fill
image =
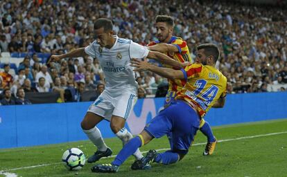
[[[186,84],[175,100],[183,99],[197,109],[201,117],[219,97],[226,95],[227,78],[214,66],[191,64],[182,69]]]

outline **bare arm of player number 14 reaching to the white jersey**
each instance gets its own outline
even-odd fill
[[[171,80],[184,79],[184,73],[182,73],[182,71],[180,70],[154,66],[153,64],[148,63],[146,60],[139,61],[137,59],[132,59],[131,63],[131,66],[136,67],[134,71],[152,71],[153,73],[156,73],[158,75],[161,75],[162,77],[166,77]]]

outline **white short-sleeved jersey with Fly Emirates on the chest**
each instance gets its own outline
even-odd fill
[[[101,48],[97,41],[85,47],[85,53],[97,58],[105,73],[105,89],[118,92],[131,88],[137,91],[137,82],[130,59],[143,58],[148,55],[148,48],[134,43],[132,40],[114,36],[116,41],[112,48]]]

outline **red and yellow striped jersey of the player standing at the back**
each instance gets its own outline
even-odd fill
[[[154,46],[156,44],[159,44],[159,41],[152,41],[148,46]],[[186,41],[182,40],[181,37],[171,37],[171,40],[168,41],[167,44],[173,44],[177,47],[178,52],[177,53],[164,53],[165,55],[168,55],[168,57],[171,57],[178,62],[192,62],[191,55],[189,54],[189,47],[186,44]],[[171,66],[165,65],[166,68],[171,68]],[[182,89],[184,86],[185,81],[182,80],[168,80],[168,91],[171,92],[177,92]]]

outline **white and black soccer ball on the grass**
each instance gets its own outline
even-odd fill
[[[64,166],[69,170],[78,170],[84,167],[86,162],[85,154],[78,148],[71,148],[64,151],[62,156]]]

